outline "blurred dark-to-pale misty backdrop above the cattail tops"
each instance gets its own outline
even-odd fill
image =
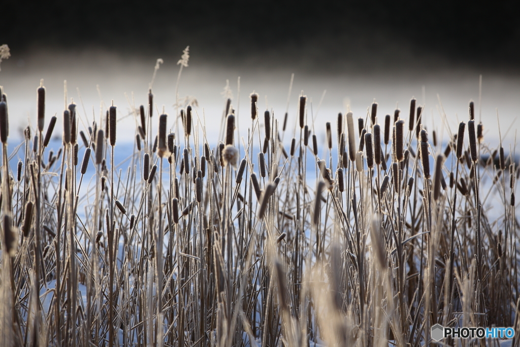
[[[459,121],[468,118],[468,102],[473,99],[486,139],[498,139],[498,109],[502,138],[514,142],[520,110],[520,21],[513,1],[484,7],[444,0],[153,4],[8,0],[1,11],[0,44],[11,49],[11,57],[0,66],[11,136],[20,134],[28,118],[34,126],[36,88],[43,78],[46,123],[55,113],[61,116],[63,80],[67,80],[68,102],[72,97],[79,104],[85,123],[80,123],[80,130],[87,122],[98,121],[114,100],[121,119],[118,136],[132,140],[131,109],[146,105],[157,58],[164,63],[153,85],[154,101],[159,110],[164,105],[174,128],[177,61],[189,45],[189,67],[180,79],[179,98],[197,99],[199,117],[215,141],[226,80],[245,132],[251,124],[253,91],[260,95],[261,111],[272,109],[283,120],[294,73],[285,139],[292,137],[296,100],[303,91],[312,102],[309,119],[318,119],[314,131],[322,139],[324,123],[335,123],[337,112],[345,112],[347,104],[354,117],[365,118],[375,98],[380,123],[397,106],[407,121],[414,96],[426,105],[425,126],[440,127],[445,140]],[[154,119],[154,128],[156,123]]]

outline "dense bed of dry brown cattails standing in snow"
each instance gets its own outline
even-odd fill
[[[225,100],[211,139],[177,95],[177,115],[153,112],[152,84],[122,167],[113,104],[89,123],[71,102],[49,148],[43,81],[11,167],[2,89],[3,346],[422,346],[435,324],[520,331],[515,144],[475,133],[473,102],[457,134],[427,131],[414,98],[406,119],[374,101],[356,131],[348,110],[336,129],[313,121],[303,92],[295,124],[289,102],[283,126],[273,110],[259,119],[253,92],[246,114]]]

